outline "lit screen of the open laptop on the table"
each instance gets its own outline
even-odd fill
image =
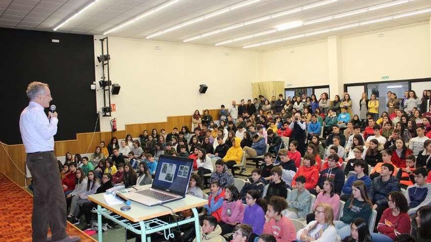
[[[186,196],[192,167],[190,158],[160,155],[152,188]]]

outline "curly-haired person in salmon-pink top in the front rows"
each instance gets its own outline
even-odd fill
[[[263,234],[273,235],[277,242],[290,242],[296,238],[292,221],[281,214],[286,208],[287,202],[284,198],[274,196],[268,202]]]

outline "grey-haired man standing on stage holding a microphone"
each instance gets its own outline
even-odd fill
[[[30,103],[20,117],[20,131],[26,164],[33,177],[33,242],[78,242],[66,233],[66,198],[61,185],[57,158],[54,155],[54,135],[57,133],[57,112],[48,112],[52,100],[48,84],[32,82],[26,90]],[[52,237],[47,238],[48,225]]]

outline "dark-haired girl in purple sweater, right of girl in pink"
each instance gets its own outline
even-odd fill
[[[253,242],[263,232],[267,204],[266,200],[261,198],[259,192],[256,190],[247,191],[245,202],[247,206],[245,206],[242,223],[248,224],[253,228],[253,233],[248,239],[248,241]]]

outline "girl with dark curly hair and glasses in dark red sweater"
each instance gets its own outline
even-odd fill
[[[407,200],[400,192],[391,192],[387,195],[388,208],[377,224],[379,233],[372,233],[373,242],[392,242],[399,234],[410,233],[411,223],[408,217]]]

